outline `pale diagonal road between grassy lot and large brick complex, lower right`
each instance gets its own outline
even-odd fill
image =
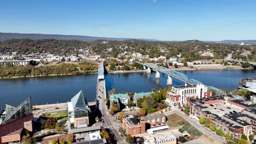
[[[224,140],[220,139],[217,135],[214,135],[211,131],[208,131],[204,127],[202,127],[201,124],[198,123],[198,121],[193,121],[188,116],[186,116],[184,113],[179,111],[178,109],[173,109],[171,111],[165,112],[165,116],[171,115],[172,113],[177,113],[179,116],[184,118],[186,121],[188,121],[193,127],[199,129],[203,134],[207,135],[211,139],[213,139],[216,143],[225,143]]]

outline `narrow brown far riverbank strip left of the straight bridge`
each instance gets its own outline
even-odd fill
[[[10,77],[0,77],[1,79],[20,79],[29,77],[43,77],[43,76],[65,76],[65,75],[84,75],[84,74],[97,74],[97,71],[89,71],[90,73],[69,73],[69,74],[50,74],[50,75],[27,75],[27,76],[10,76]]]

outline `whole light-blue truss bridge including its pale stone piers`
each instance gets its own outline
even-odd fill
[[[196,85],[199,83],[203,84],[198,80],[188,79],[188,77],[183,73],[179,73],[178,71],[170,70],[165,67],[160,67],[154,63],[140,63],[140,62],[137,62],[137,63],[142,64],[143,68],[147,69],[147,73],[151,73],[151,70],[154,69],[156,71],[156,74],[155,74],[156,79],[160,78],[160,73],[168,75],[167,85],[172,85],[172,77],[185,82],[185,85]],[[212,86],[207,86],[207,88],[211,91],[214,91],[216,95],[226,95],[226,93],[219,88],[212,87]]]

